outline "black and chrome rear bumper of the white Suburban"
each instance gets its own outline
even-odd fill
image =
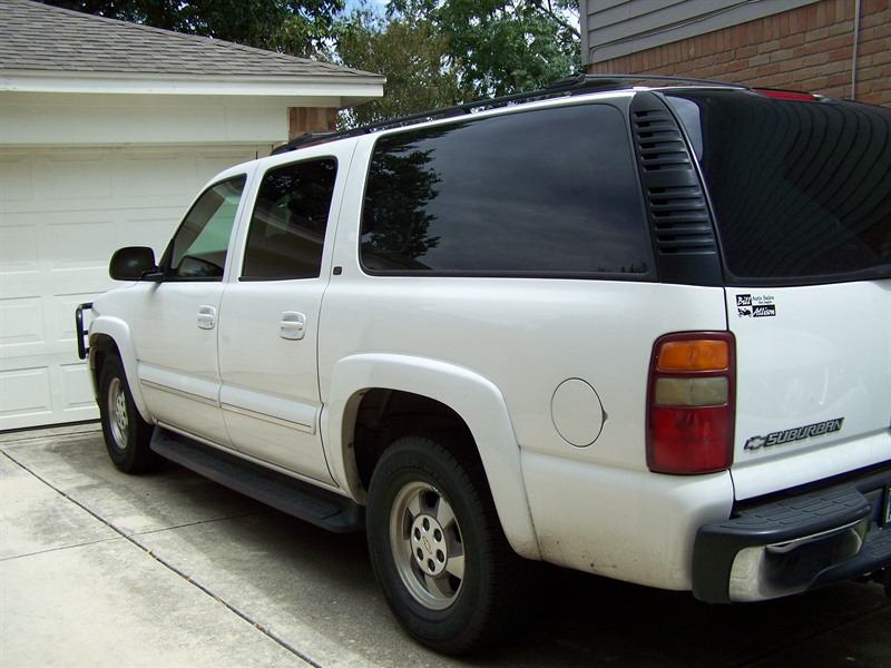
[[[705,524],[693,552],[693,593],[707,602],[799,593],[891,566],[891,465],[844,483],[735,509]]]

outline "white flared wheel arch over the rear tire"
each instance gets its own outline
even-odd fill
[[[526,497],[520,449],[498,387],[467,369],[437,360],[394,354],[360,354],[334,366],[322,434],[332,474],[360,502],[365,501],[370,466],[392,440],[370,445],[369,410],[390,411],[381,429],[399,438],[412,431],[464,430],[476,444],[501,527],[521,557],[540,559]],[[395,403],[394,403],[395,402]],[[393,406],[400,406],[393,410]],[[404,410],[403,410],[404,409]],[[432,419],[412,429],[419,418]],[[371,451],[369,451],[371,449]]]

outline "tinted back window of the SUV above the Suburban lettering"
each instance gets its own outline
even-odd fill
[[[669,98],[687,126],[736,278],[891,274],[891,112],[756,94]]]

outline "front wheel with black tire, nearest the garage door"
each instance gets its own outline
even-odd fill
[[[143,420],[130,394],[124,364],[117,355],[105,360],[99,374],[99,416],[108,455],[125,473],[147,473],[164,465],[149,448],[154,428]]]

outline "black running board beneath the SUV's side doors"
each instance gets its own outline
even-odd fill
[[[187,436],[155,428],[151,450],[246,497],[329,531],[365,528],[364,509],[345,497],[288,478]]]

